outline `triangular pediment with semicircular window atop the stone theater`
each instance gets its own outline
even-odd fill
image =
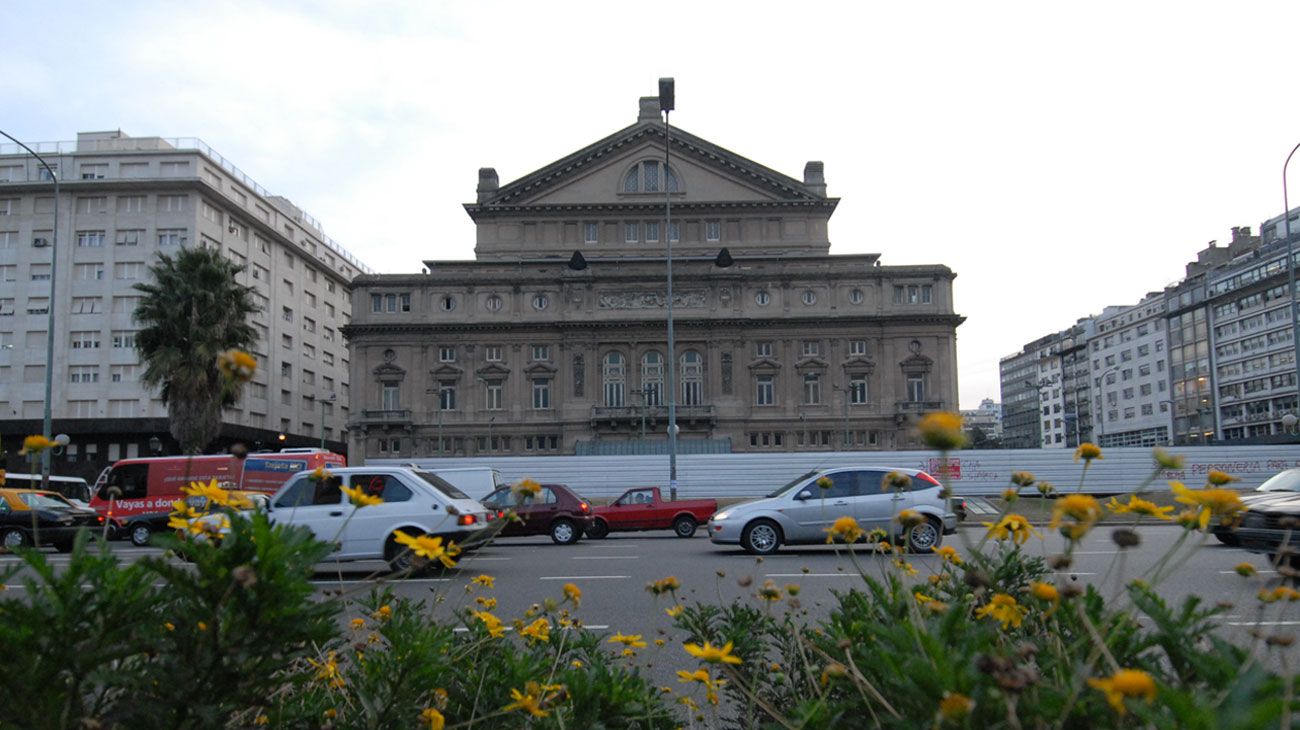
[[[670,165],[677,174],[673,204],[826,201],[801,181],[759,165],[690,132],[672,129]],[[638,122],[494,191],[478,210],[547,205],[662,204],[664,194],[628,192],[624,175],[642,161],[663,164],[662,125]]]

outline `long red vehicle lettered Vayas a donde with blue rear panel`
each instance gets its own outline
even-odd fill
[[[124,459],[95,481],[90,505],[114,526],[130,518],[172,510],[190,482],[211,482],[233,490],[274,494],[290,477],[317,466],[347,466],[343,456],[320,448],[290,448],[269,453],[250,453],[240,460],[229,453],[217,456],[160,456]],[[116,487],[117,494],[109,499]]]

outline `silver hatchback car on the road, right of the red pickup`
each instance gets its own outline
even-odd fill
[[[885,474],[910,477],[906,490],[885,487]],[[818,479],[831,479],[823,490]],[[919,512],[926,521],[909,534],[907,548],[930,552],[944,535],[957,531],[957,514],[940,496],[939,479],[919,469],[842,466],[809,472],[764,499],[733,504],[708,521],[708,539],[740,544],[754,555],[770,555],[783,544],[826,543],[827,530],[840,517],[853,517],[863,530],[880,527],[900,534],[894,517],[904,509]]]

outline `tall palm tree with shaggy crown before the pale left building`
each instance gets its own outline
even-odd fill
[[[239,399],[243,383],[222,378],[217,356],[248,349],[257,333],[252,287],[235,281],[243,271],[208,248],[160,253],[150,266],[153,281],[135,284],[144,294],[135,308],[143,325],[135,347],[144,360],[143,382],[161,387],[172,435],[185,453],[199,453],[221,433],[221,409]]]

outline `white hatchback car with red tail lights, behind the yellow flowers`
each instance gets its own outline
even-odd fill
[[[343,487],[360,488],[382,504],[355,507]],[[412,566],[412,555],[398,544],[407,535],[441,536],[443,544],[473,544],[491,513],[429,472],[406,466],[330,469],[325,479],[312,472],[291,477],[270,500],[270,520],[300,525],[316,539],[338,546],[337,560],[385,560],[394,570]]]

